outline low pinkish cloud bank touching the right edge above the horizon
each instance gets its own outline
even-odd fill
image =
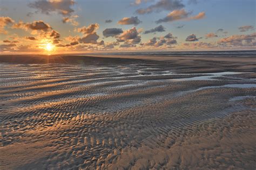
[[[233,35],[230,37],[222,38],[218,41],[218,44],[229,46],[255,46],[256,32],[247,35]]]

